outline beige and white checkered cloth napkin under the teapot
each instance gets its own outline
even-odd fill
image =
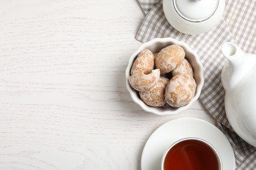
[[[228,123],[224,110],[224,89],[221,71],[224,59],[221,46],[230,41],[238,44],[244,52],[256,53],[256,0],[226,0],[224,17],[208,33],[186,35],[174,29],[165,19],[161,0],[138,0],[144,14],[136,35],[140,42],[156,37],[173,37],[190,45],[200,56],[204,67],[205,84],[200,99],[217,120],[217,127],[226,135],[236,156],[236,169],[256,169],[256,148],[243,141]]]

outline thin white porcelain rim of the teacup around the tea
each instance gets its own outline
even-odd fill
[[[179,141],[176,141],[175,143],[171,144],[171,146],[169,146],[167,148],[167,150],[165,150],[165,152],[163,153],[163,157],[161,158],[161,170],[165,170],[164,169],[165,158],[166,158],[167,154],[169,153],[169,150],[171,150],[171,148],[173,148],[173,146],[175,146],[176,144],[181,143],[182,141],[187,141],[187,140],[200,141],[201,143],[204,143],[209,148],[211,148],[211,150],[214,152],[214,154],[217,158],[217,161],[218,161],[218,164],[219,164],[219,170],[223,170],[223,163],[222,163],[222,160],[221,160],[221,156],[220,156],[219,152],[216,150],[216,148],[211,143],[209,143],[209,142],[207,142],[203,139],[200,139],[198,137],[186,137],[186,138],[180,139]]]

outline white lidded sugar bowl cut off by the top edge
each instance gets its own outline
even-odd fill
[[[168,22],[190,35],[205,33],[219,24],[224,8],[224,0],[163,0]]]

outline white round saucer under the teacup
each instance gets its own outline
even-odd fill
[[[163,152],[175,141],[198,137],[211,143],[223,161],[223,170],[236,169],[234,152],[226,136],[209,122],[197,118],[179,118],[160,126],[148,139],[141,158],[142,170],[160,170]]]

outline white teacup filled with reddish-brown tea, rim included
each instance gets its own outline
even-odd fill
[[[222,170],[221,157],[207,141],[185,138],[171,144],[163,154],[162,170]]]

